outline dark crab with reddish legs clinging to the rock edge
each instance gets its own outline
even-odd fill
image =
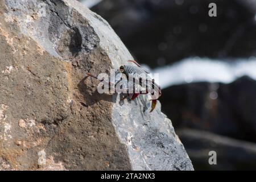
[[[122,73],[122,74],[124,74],[127,78],[129,78],[130,75],[133,75],[133,76],[136,75],[136,76],[135,76],[135,79],[137,79],[137,76],[140,76],[140,75],[142,75],[142,74],[147,75],[147,77],[146,77],[146,79],[144,80],[144,82],[146,82],[146,83],[150,82],[151,85],[147,85],[147,84],[146,84],[146,88],[144,88],[144,89],[145,89],[144,92],[128,93],[128,94],[127,94],[125,97],[123,97],[121,100],[125,100],[125,98],[129,97],[130,95],[133,95],[133,96],[131,97],[131,100],[135,100],[135,98],[137,98],[140,94],[151,94],[151,98],[152,98],[152,99],[151,99],[152,104],[151,104],[151,110],[150,110],[150,113],[151,113],[151,112],[155,109],[155,107],[156,107],[156,103],[157,103],[158,98],[162,95],[161,88],[160,88],[159,85],[157,85],[157,84],[155,83],[155,80],[154,80],[154,79],[151,79],[151,77],[148,76],[149,72],[146,71],[146,69],[142,68],[141,65],[139,65],[139,64],[137,63],[137,61],[135,61],[135,60],[129,60],[128,62],[134,63],[135,66],[134,66],[134,65],[121,65],[121,67],[117,70],[117,73]],[[86,73],[86,78],[87,78],[87,77],[93,77],[93,78],[96,78],[97,80],[99,80],[98,77],[95,76],[95,75],[93,75],[92,73]],[[101,80],[99,80],[99,81],[105,82],[105,84],[108,84],[108,85],[113,84],[113,85],[116,86],[116,85],[118,84],[118,82],[121,81],[121,79],[116,80],[115,83],[106,81],[106,80],[104,80],[104,79],[101,79]],[[142,80],[141,80],[140,77],[138,77],[138,82],[139,82],[139,84],[142,86]],[[150,88],[150,90],[151,90],[151,89],[153,89],[153,90],[150,92],[148,88]],[[156,94],[156,92],[158,92],[158,94]]]

